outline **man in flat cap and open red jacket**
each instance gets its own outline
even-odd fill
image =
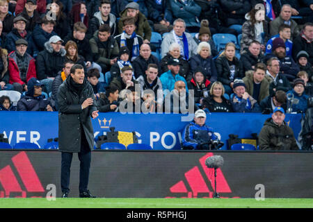
[[[9,83],[16,91],[27,91],[27,82],[36,77],[35,59],[26,53],[28,42],[24,39],[15,41],[16,51],[8,55]]]

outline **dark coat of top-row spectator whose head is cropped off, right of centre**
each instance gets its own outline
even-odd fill
[[[250,1],[248,0],[220,0],[220,6],[223,12],[227,14],[227,27],[234,24],[242,25],[246,21],[246,13],[251,9]],[[233,14],[232,11],[236,13]]]

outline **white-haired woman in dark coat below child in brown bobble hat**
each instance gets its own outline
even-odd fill
[[[202,67],[204,69],[205,78],[209,79],[211,83],[217,80],[216,67],[211,57],[211,46],[209,43],[200,42],[197,55],[191,57],[189,64],[193,72],[195,72],[197,67]]]

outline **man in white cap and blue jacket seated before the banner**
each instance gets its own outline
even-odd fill
[[[184,129],[182,148],[185,150],[209,150],[218,148],[223,143],[218,141],[214,131],[205,125],[207,114],[203,110],[197,110],[193,121]]]

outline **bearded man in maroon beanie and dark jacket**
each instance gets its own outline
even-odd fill
[[[296,78],[300,69],[291,56],[286,56],[286,45],[284,44],[284,40],[280,37],[273,40],[272,53],[265,56],[264,63],[266,64],[267,60],[271,57],[277,57],[278,60],[280,60],[280,72],[286,76],[289,81],[293,81]]]

